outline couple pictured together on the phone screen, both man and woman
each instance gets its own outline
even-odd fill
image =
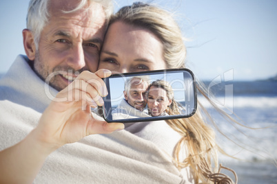
[[[165,80],[150,83],[147,76],[128,78],[124,98],[112,111],[113,119],[154,117],[179,114],[174,91]]]

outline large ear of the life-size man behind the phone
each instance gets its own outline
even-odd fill
[[[36,46],[34,45],[34,35],[28,29],[22,31],[23,35],[23,45],[25,53],[30,60],[34,60],[36,56]]]

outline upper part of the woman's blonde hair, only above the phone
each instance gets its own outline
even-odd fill
[[[116,12],[110,19],[110,25],[116,21],[152,31],[163,43],[163,58],[167,68],[185,67],[186,48],[182,32],[169,12],[145,3],[134,3]]]

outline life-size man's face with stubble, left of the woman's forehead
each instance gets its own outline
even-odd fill
[[[79,1],[51,1],[50,20],[41,32],[34,70],[46,80],[54,72],[50,85],[60,91],[81,71],[95,72],[105,34],[105,13],[98,3],[77,12]],[[88,17],[89,16],[89,17]],[[49,79],[49,78],[48,78]],[[48,80],[47,79],[47,80]]]

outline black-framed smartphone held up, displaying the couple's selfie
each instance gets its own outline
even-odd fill
[[[191,117],[196,112],[194,74],[189,69],[165,69],[113,74],[103,78],[106,122],[145,122]]]

